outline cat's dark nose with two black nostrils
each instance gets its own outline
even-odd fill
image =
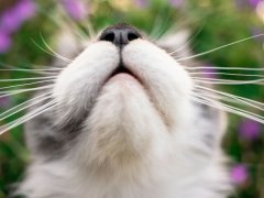
[[[99,40],[109,41],[118,47],[122,47],[129,42],[138,40],[140,37],[142,37],[141,34],[134,28],[120,24],[106,29],[101,33]]]

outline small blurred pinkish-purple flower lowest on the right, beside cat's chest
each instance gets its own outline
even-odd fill
[[[242,185],[249,178],[249,170],[245,165],[239,164],[232,168],[231,178],[235,185]]]

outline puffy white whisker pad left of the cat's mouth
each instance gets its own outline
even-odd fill
[[[62,120],[77,117],[79,109],[91,108],[103,80],[119,64],[118,50],[108,42],[87,47],[58,76],[53,91]],[[73,107],[73,103],[75,106]]]

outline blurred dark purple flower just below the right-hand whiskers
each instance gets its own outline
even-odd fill
[[[261,124],[253,120],[244,120],[240,125],[240,134],[248,140],[256,140],[261,135]]]

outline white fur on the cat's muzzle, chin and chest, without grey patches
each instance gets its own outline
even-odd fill
[[[92,110],[78,144],[62,160],[36,160],[22,191],[58,198],[227,197],[220,146],[206,146],[194,125],[188,74],[165,51],[136,40],[123,48],[122,61],[140,81],[119,75],[103,84],[119,59],[114,45],[98,42],[58,76],[57,122]]]

